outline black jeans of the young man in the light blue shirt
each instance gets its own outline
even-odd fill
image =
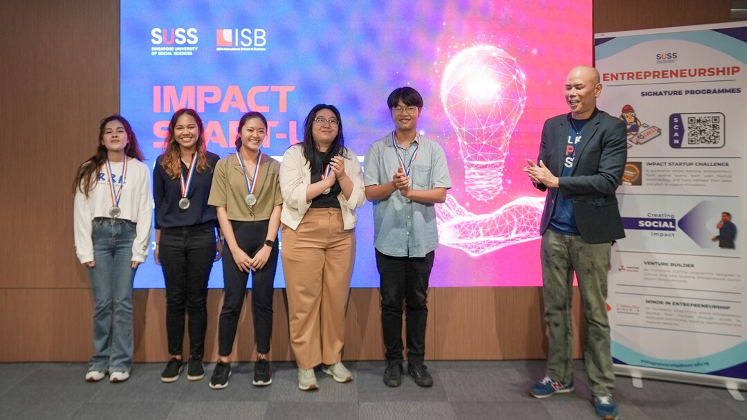
[[[428,279],[435,251],[423,258],[388,256],[376,250],[381,292],[381,324],[387,362],[401,362],[402,304],[407,308],[407,360],[423,363],[428,320]]]

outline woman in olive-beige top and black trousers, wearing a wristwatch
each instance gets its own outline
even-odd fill
[[[255,386],[272,383],[267,353],[273,327],[273,282],[278,261],[277,235],[282,197],[280,163],[262,153],[267,120],[258,112],[241,117],[236,153],[220,159],[215,167],[208,204],[215,206],[218,223],[229,252],[223,252],[223,310],[218,320],[218,362],[210,380],[212,389],[228,386],[229,356],[233,348],[252,272],[252,315],[257,346]]]

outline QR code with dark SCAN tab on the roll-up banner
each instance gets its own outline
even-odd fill
[[[669,145],[677,148],[717,149],[725,143],[725,120],[720,112],[672,114]]]

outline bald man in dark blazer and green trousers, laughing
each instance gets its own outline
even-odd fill
[[[542,129],[537,164],[524,171],[547,191],[542,214],[542,284],[550,330],[545,378],[530,389],[536,398],[573,391],[571,299],[576,274],[586,318],[585,361],[595,411],[618,418],[607,319],[607,273],[612,242],[624,237],[615,196],[627,159],[625,125],[596,108],[601,94],[593,67],[574,67],[565,84],[571,112]]]

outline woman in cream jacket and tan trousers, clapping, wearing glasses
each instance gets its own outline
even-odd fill
[[[282,258],[298,387],[317,389],[314,367],[337,382],[353,380],[341,362],[345,311],[356,259],[356,208],[365,201],[361,164],[344,146],[340,112],[311,108],[303,142],[285,152]]]

